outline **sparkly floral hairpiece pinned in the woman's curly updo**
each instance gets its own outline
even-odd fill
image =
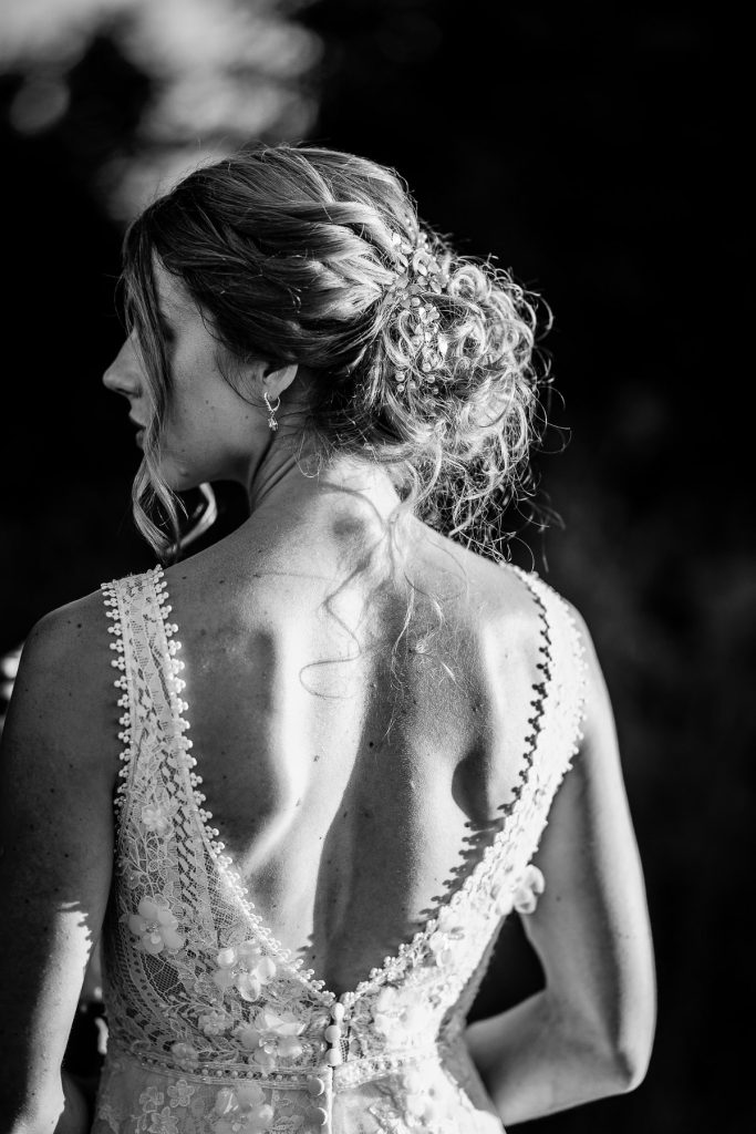
[[[447,353],[447,340],[439,330],[441,316],[432,297],[445,290],[449,277],[427,234],[421,231],[417,242],[409,244],[399,232],[392,232],[391,243],[400,270],[390,290],[399,301],[399,332],[406,359],[405,367],[396,373],[397,392],[415,390],[422,382],[438,393],[438,369]]]

